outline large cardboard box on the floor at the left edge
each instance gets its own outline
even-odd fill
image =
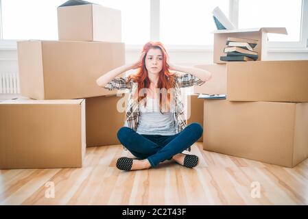
[[[0,103],[0,168],[81,168],[84,99]]]

